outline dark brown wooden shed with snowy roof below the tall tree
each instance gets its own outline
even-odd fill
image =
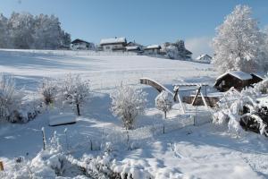
[[[225,72],[216,79],[214,87],[222,92],[230,90],[234,87],[236,90],[243,90],[256,82],[263,81],[263,79],[254,74],[241,71]]]

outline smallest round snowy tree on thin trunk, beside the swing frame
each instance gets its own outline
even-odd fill
[[[165,90],[163,90],[155,98],[155,107],[164,113],[164,118],[166,119],[166,113],[172,109],[173,97]]]

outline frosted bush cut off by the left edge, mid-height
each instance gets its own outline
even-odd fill
[[[11,76],[0,76],[0,121],[19,122],[22,94]]]

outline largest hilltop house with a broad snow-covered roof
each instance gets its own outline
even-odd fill
[[[126,51],[126,38],[105,38],[101,39],[100,46],[104,51]]]

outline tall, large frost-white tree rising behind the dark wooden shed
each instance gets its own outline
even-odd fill
[[[213,64],[220,71],[255,72],[262,66],[260,47],[264,42],[250,7],[237,5],[216,33]]]

